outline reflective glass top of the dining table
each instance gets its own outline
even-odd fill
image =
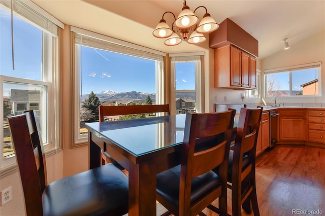
[[[87,123],[87,127],[135,156],[183,142],[186,114]]]

